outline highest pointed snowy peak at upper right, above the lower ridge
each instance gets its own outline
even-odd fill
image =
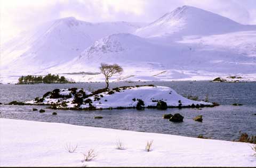
[[[138,36],[183,36],[213,35],[241,30],[255,30],[255,26],[244,26],[218,14],[193,6],[178,7],[171,13],[139,28]]]

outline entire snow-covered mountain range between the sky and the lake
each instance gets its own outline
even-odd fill
[[[114,80],[205,80],[255,74],[256,26],[191,6],[146,26],[65,18],[17,37],[2,53],[5,79],[60,73],[76,81],[99,81],[102,75],[78,72],[99,72],[105,62],[123,66],[124,73]]]

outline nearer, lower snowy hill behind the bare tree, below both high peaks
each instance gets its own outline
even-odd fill
[[[255,35],[254,31],[247,31],[202,38],[187,36],[165,44],[119,33],[95,41],[74,60],[45,73],[99,72],[101,62],[122,65],[120,79],[129,77],[128,80],[191,80],[196,75],[212,79],[225,74],[255,73]],[[210,78],[203,77],[209,74]],[[89,78],[103,80],[99,75],[84,75],[84,79],[77,80]]]

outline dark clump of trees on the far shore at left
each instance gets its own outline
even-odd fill
[[[75,81],[71,79],[66,79],[65,77],[55,74],[47,74],[44,77],[42,75],[26,75],[21,76],[18,79],[17,85],[25,85],[25,84],[38,84],[38,83],[75,83]]]

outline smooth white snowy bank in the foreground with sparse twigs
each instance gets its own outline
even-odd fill
[[[249,144],[159,133],[133,132],[0,119],[0,166],[255,166]],[[120,139],[124,150],[116,149]],[[146,152],[147,141],[154,140]],[[65,149],[76,146],[75,153]],[[82,153],[94,149],[90,162]]]

